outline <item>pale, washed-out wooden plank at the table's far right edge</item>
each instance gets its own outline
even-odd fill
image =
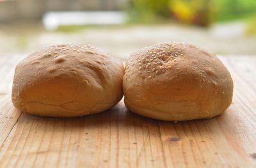
[[[228,57],[223,60],[234,79],[234,100],[228,111],[236,126],[223,122],[230,132],[230,141],[236,141],[234,148],[243,148],[246,156],[255,163],[256,153],[256,57]]]

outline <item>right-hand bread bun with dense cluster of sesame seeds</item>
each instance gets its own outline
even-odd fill
[[[166,121],[217,116],[233,94],[220,59],[186,43],[160,43],[131,54],[123,88],[132,112]]]

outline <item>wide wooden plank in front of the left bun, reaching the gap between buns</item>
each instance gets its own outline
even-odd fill
[[[131,114],[123,102],[111,112],[83,118],[22,114],[1,148],[0,163],[3,167],[45,167],[46,163],[52,167],[164,167],[157,128],[157,121]]]

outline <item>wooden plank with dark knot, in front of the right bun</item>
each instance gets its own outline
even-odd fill
[[[246,167],[243,153],[232,148],[216,118],[160,126],[168,167]]]

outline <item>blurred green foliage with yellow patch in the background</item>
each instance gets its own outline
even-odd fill
[[[130,22],[178,20],[209,26],[211,22],[241,19],[256,13],[256,0],[131,0]]]

